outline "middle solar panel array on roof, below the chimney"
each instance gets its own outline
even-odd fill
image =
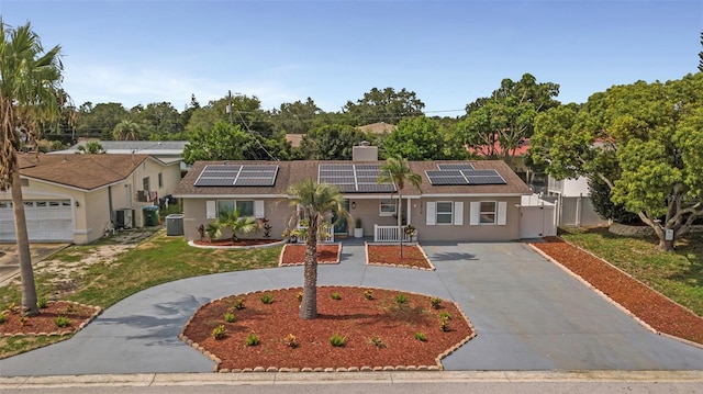
[[[336,184],[343,193],[383,193],[394,192],[390,182],[378,183],[380,165],[330,164],[320,165],[317,181]]]

